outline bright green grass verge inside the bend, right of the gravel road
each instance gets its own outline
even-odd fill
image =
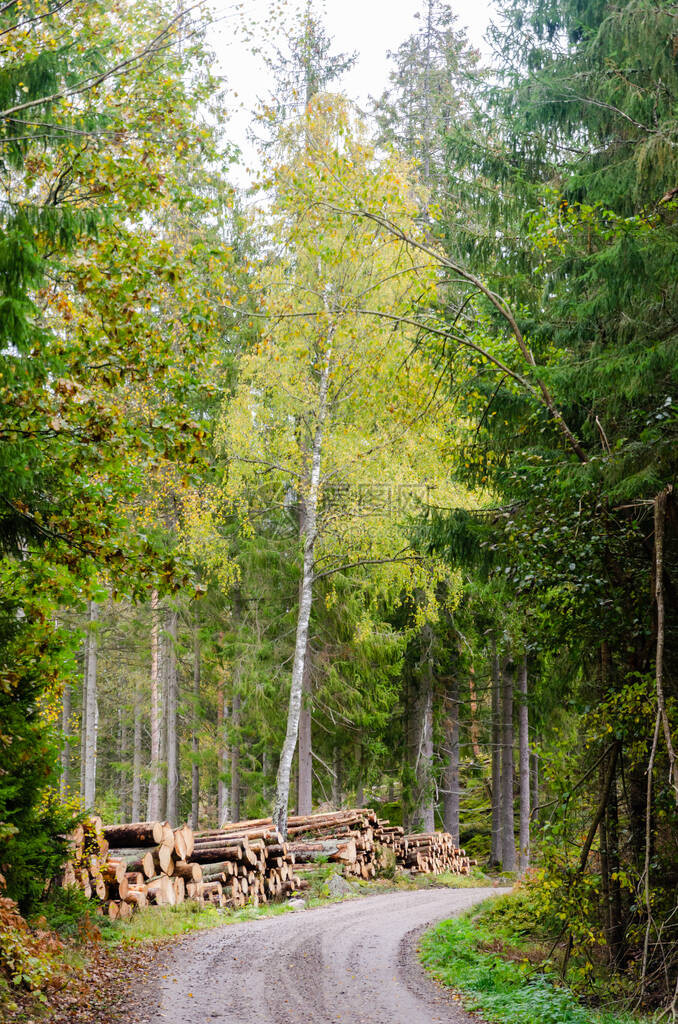
[[[630,1014],[583,1006],[526,957],[507,958],[495,951],[501,943],[491,918],[498,902],[443,922],[427,932],[420,945],[425,968],[458,991],[466,1009],[492,1024],[638,1024],[641,1018]]]

